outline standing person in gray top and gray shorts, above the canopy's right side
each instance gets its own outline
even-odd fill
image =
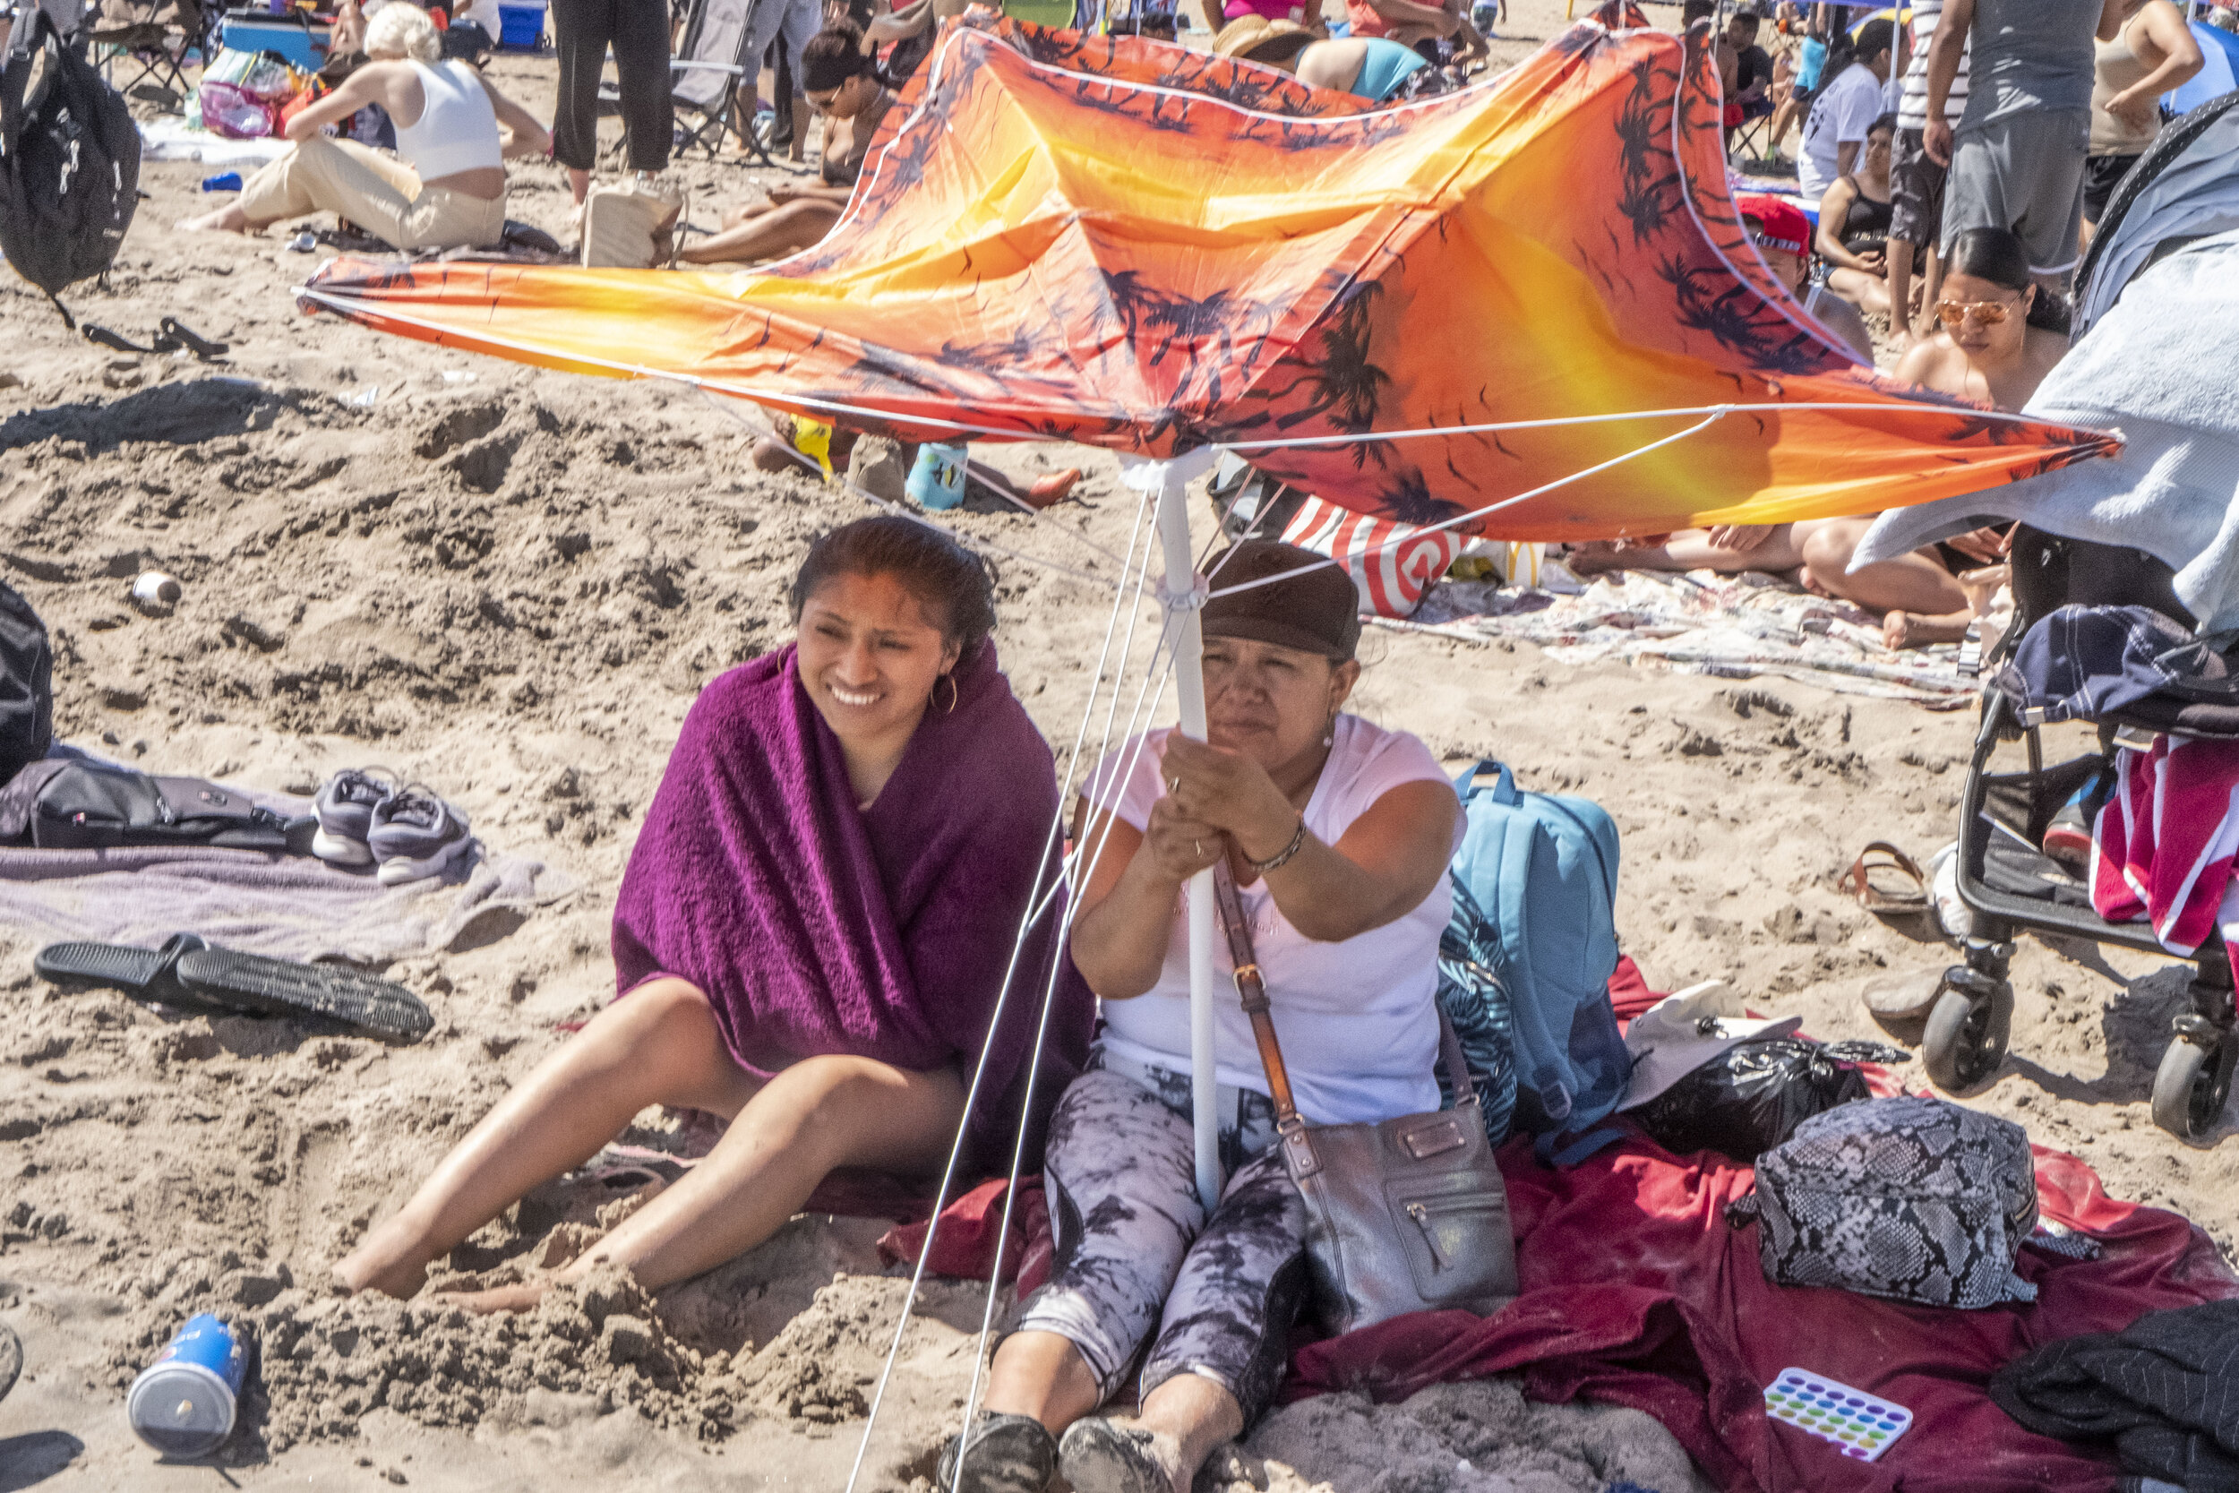
[[[1950,0],[1928,49],[1923,145],[1950,163],[1943,237],[2011,228],[2031,273],[2064,291],[2076,271],[2091,145],[2091,38],[2114,40],[2123,0]],[[1959,56],[1968,98],[1946,119]]]

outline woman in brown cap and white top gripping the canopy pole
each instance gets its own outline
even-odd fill
[[[1234,994],[1214,1007],[1227,1184],[1211,1213],[1198,1202],[1180,911],[1193,873],[1225,864],[1236,880],[1308,1119],[1437,1108],[1453,786],[1415,736],[1343,714],[1361,622],[1341,569],[1243,542],[1200,620],[1209,741],[1151,732],[1081,790],[1070,947],[1104,1036],[1050,1119],[1059,1262],[996,1350],[987,1412],[943,1457],[952,1493],[1039,1493],[1057,1471],[1075,1493],[1189,1489],[1281,1381],[1305,1204]],[[1099,1415],[1128,1379],[1140,1415]]]

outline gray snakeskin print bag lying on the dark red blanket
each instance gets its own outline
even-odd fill
[[[2037,1222],[2029,1135],[1943,1099],[1861,1099],[1802,1121],[1726,1211],[1735,1227],[1751,1215],[1773,1285],[1926,1307],[2037,1298],[2013,1274]]]

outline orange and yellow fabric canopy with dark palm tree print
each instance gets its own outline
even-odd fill
[[[1231,445],[1509,539],[1876,513],[2116,448],[1858,367],[1735,217],[1717,69],[1632,7],[1359,110],[1160,43],[952,22],[790,260],[340,260],[302,295],[914,439]]]

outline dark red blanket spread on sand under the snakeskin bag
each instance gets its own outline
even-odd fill
[[[1612,980],[1610,994],[1628,1016],[1657,1001],[1646,983],[1619,989]],[[2102,1256],[2024,1249],[2020,1274],[2037,1285],[2035,1305],[1946,1312],[1767,1285],[1755,1224],[1724,1222],[1726,1202],[1753,1184],[1749,1166],[1711,1153],[1675,1157],[1632,1135],[1572,1171],[1549,1171],[1531,1157],[1529,1137],[1516,1139],[1500,1148],[1500,1171],[1525,1294],[1489,1318],[1426,1312],[1308,1343],[1292,1359],[1287,1395],[1352,1388],[1406,1399],[1451,1379],[1520,1372],[1531,1399],[1646,1410],[1729,1493],[2111,1489],[2111,1453],[2022,1430],[1990,1403],[1990,1374],[2053,1339],[2239,1296],[2239,1280],[2176,1213],[2114,1202],[2071,1155],[2035,1155],[2044,1218],[2096,1236]],[[943,1215],[934,1271],[987,1274],[1001,1200],[1003,1184],[990,1182]],[[925,1224],[916,1224],[882,1247],[889,1258],[916,1258],[922,1240]],[[1039,1180],[1028,1180],[1003,1274],[1023,1262],[1032,1285],[1046,1260],[1048,1211]],[[1764,1386],[1784,1368],[1894,1399],[1914,1424],[1881,1462],[1852,1462],[1764,1415]]]

